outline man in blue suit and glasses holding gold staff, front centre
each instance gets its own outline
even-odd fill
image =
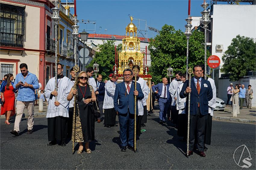
[[[134,90],[135,82],[132,81],[132,70],[123,70],[123,77],[124,81],[116,85],[116,90],[114,94],[114,109],[115,111],[117,111],[119,119],[122,152],[126,151],[127,143],[128,149],[134,151],[134,96],[137,96],[137,101],[144,98],[144,94],[142,93],[139,83],[136,83],[136,90]],[[136,114],[138,114],[138,104],[136,105]]]

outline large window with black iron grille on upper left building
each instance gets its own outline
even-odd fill
[[[23,47],[25,8],[1,4],[0,9],[1,45]]]

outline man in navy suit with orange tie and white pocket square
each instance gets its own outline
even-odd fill
[[[191,79],[191,88],[189,88],[189,81],[187,80],[180,91],[180,97],[185,98],[190,93],[189,156],[193,154],[195,129],[197,129],[199,155],[205,157],[204,131],[208,118],[208,102],[212,99],[213,93],[211,83],[201,78],[202,73],[203,70],[200,65],[193,67],[194,77]],[[188,103],[188,97],[186,103]],[[186,105],[186,113],[188,113],[188,105]]]

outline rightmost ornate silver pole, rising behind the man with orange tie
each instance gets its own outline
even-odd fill
[[[204,25],[204,79],[206,79],[206,36],[207,36],[207,27],[208,24],[211,22],[209,19],[210,10],[206,10],[209,4],[204,0],[204,3],[201,4],[201,7],[204,8],[204,10],[201,12],[202,18],[200,18],[200,23]]]

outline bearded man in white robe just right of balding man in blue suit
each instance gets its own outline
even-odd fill
[[[175,77],[176,79],[174,79],[171,83],[170,83],[170,87],[169,87],[169,92],[171,94],[172,97],[172,102],[171,102],[171,119],[173,121],[173,124],[176,124],[175,127],[177,127],[178,125],[178,111],[176,108],[177,105],[177,90],[178,87],[181,83],[183,83],[182,81],[180,81],[180,71],[177,71],[175,73]]]

